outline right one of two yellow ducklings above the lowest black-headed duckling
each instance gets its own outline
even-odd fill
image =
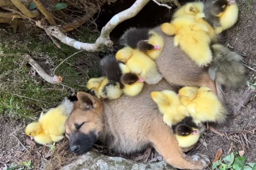
[[[181,88],[179,94],[181,104],[187,107],[189,115],[197,124],[225,121],[227,111],[210,88],[187,86]]]

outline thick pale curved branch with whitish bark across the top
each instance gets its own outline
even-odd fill
[[[101,51],[104,45],[108,47],[111,47],[113,45],[113,42],[109,38],[109,33],[124,20],[130,19],[137,15],[149,1],[150,0],[136,0],[130,8],[114,15],[102,28],[100,37],[93,44],[83,43],[69,38],[64,33],[61,33],[60,28],[58,28],[57,26],[48,26],[45,29],[49,30],[51,35],[59,39],[62,43],[67,44],[68,46],[71,46],[73,48],[89,52]]]

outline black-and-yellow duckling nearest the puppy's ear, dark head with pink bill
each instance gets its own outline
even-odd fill
[[[144,79],[131,72],[124,63],[116,60],[115,55],[107,55],[100,62],[103,74],[112,82],[118,82],[121,90],[128,96],[138,95],[143,86]]]

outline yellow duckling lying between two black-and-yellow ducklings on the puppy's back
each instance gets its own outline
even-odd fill
[[[117,51],[116,59],[125,63],[132,73],[143,78],[147,84],[156,84],[163,78],[155,61],[137,49],[122,48]]]

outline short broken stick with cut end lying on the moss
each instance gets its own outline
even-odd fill
[[[30,57],[29,55],[26,55],[26,57],[28,57],[28,63],[36,70],[39,76],[41,76],[45,81],[52,84],[59,84],[62,82],[61,76],[52,77],[48,75],[32,57]]]

